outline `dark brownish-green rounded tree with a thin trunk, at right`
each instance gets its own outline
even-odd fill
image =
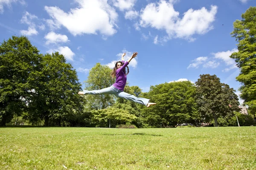
[[[234,111],[239,111],[235,90],[221,83],[216,75],[200,75],[195,85],[199,111],[206,120],[214,119],[215,126],[218,126],[220,116],[232,116]]]

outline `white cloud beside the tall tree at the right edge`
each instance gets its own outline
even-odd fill
[[[230,71],[233,68],[236,67],[236,62],[234,59],[230,58],[231,54],[234,52],[237,52],[238,50],[236,48],[232,49],[231,51],[221,51],[218,53],[213,53],[214,58],[221,59],[225,62],[226,65],[229,65],[229,68],[225,68],[223,71]]]

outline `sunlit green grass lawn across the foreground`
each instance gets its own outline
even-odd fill
[[[2,127],[4,169],[255,170],[256,127]]]

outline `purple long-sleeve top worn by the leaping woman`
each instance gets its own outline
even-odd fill
[[[125,64],[116,70],[116,82],[113,84],[113,86],[115,88],[117,88],[121,91],[124,90],[125,85],[126,85],[126,80],[127,80],[126,75],[123,70],[129,64],[129,62],[127,62],[127,61],[126,62],[122,61],[122,62],[124,62]]]

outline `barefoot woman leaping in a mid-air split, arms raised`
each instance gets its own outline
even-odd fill
[[[135,57],[137,57],[137,52],[133,53],[130,59],[128,61],[124,61],[125,53],[122,54],[122,61],[118,61],[115,64],[115,67],[113,68],[113,71],[111,72],[111,76],[114,78],[116,77],[116,82],[111,85],[109,88],[103,88],[101,90],[93,90],[93,91],[79,91],[78,94],[93,94],[93,95],[100,95],[100,94],[114,94],[116,97],[120,97],[122,99],[127,99],[136,103],[139,103],[141,105],[145,105],[146,107],[149,107],[151,105],[155,105],[156,103],[150,103],[149,99],[145,99],[142,97],[136,97],[134,95],[128,94],[124,92],[124,88],[126,85],[126,75],[129,73],[128,64],[131,62],[131,60]],[[127,68],[127,71],[126,69]]]

